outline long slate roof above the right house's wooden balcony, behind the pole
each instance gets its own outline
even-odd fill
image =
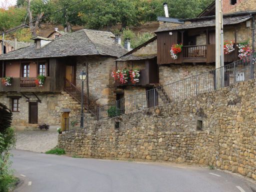
[[[223,25],[228,24],[237,24],[243,21],[250,19],[250,16],[234,16],[234,17],[224,17],[223,18]],[[177,26],[170,26],[169,23],[165,23],[155,31],[168,31],[168,30],[178,30],[178,29],[188,29],[188,28],[199,28],[199,27],[207,27],[207,26],[215,26],[215,19],[212,20],[202,20],[202,21],[195,21],[190,24],[180,24]]]

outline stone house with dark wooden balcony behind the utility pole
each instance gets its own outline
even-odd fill
[[[249,7],[252,1],[247,0],[244,3],[246,2]],[[254,37],[256,7],[250,7],[249,11],[242,10],[241,7],[240,2],[230,5],[229,0],[223,1],[224,40],[232,41],[234,44],[234,50],[224,55],[225,64],[239,59],[236,44],[248,42],[252,50],[256,45]],[[158,17],[160,23],[155,31],[156,36],[117,59],[116,68],[140,69],[139,82],[135,84],[117,82],[117,93],[121,95],[117,99],[214,69],[214,17],[215,1],[196,18]],[[173,44],[178,43],[183,44],[182,51],[177,54],[177,59],[173,59],[170,49]],[[225,82],[228,82],[228,75],[225,75]],[[211,78],[214,78],[213,74]],[[168,90],[161,91],[163,92],[159,92],[158,96],[168,92]]]

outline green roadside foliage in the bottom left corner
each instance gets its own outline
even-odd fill
[[[8,191],[12,186],[13,177],[10,175],[10,148],[15,145],[13,128],[6,128],[0,132],[0,191]]]

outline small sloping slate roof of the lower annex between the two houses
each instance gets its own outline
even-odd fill
[[[133,55],[132,53],[136,50],[140,49],[141,47],[147,45],[148,43],[154,41],[157,38],[157,36],[154,36],[150,38],[148,41],[144,42],[143,44],[140,44],[139,46],[133,48],[129,52],[122,55],[120,58],[116,59],[116,61],[126,61],[126,60],[143,60],[143,59],[150,59],[156,57],[156,54],[143,54],[143,55]]]

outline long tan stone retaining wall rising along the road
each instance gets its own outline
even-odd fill
[[[250,80],[123,114],[59,135],[58,147],[97,158],[214,165],[256,179],[255,92]]]

